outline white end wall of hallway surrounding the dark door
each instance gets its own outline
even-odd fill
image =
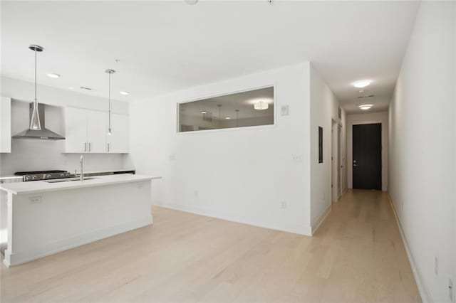
[[[353,125],[382,124],[382,191],[388,190],[388,112],[347,115],[347,181],[353,188]]]

